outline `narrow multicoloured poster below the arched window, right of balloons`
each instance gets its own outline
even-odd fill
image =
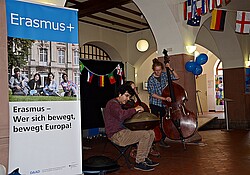
[[[223,76],[215,75],[215,110],[224,111]]]

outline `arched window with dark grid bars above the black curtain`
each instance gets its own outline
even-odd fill
[[[81,53],[81,56],[83,58],[92,60],[111,60],[109,55],[97,46],[91,44],[84,44],[82,50],[83,52]]]

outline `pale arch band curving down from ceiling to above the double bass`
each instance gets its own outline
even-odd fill
[[[158,53],[162,53],[163,49],[171,49],[171,54],[183,53],[184,42],[170,9],[173,3],[166,0],[134,0],[134,2],[150,25],[157,43]]]

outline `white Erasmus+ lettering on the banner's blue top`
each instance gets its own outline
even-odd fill
[[[66,29],[68,29],[69,32],[71,32],[75,28],[74,26],[72,26],[71,23],[65,24],[64,22],[54,22],[54,21],[43,20],[43,19],[25,18],[16,13],[10,14],[10,24],[40,28],[40,29],[49,29],[49,30],[55,30],[55,31],[59,30],[62,32],[65,31]]]

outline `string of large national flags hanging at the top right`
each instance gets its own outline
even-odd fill
[[[225,5],[231,0],[224,0]],[[226,13],[232,10],[219,9],[223,5],[223,0],[187,0],[184,2],[184,20],[191,26],[200,26],[201,16],[212,12],[210,29],[223,31]],[[250,12],[237,11],[235,32],[250,33]]]

